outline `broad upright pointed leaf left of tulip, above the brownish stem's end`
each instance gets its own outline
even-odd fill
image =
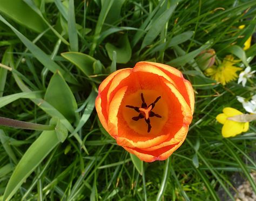
[[[67,120],[76,120],[77,103],[69,85],[57,71],[51,78],[44,99],[62,113]]]

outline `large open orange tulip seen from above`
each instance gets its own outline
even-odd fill
[[[100,84],[96,110],[117,144],[142,161],[161,161],[186,138],[194,93],[176,68],[141,61]]]

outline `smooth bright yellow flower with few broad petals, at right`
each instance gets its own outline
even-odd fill
[[[221,134],[223,137],[234,137],[249,129],[249,122],[237,122],[229,120],[228,117],[241,115],[242,113],[234,108],[225,107],[223,113],[216,116],[216,120],[223,124]]]

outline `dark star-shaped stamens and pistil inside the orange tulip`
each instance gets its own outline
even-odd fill
[[[142,99],[142,106],[141,107],[130,106],[130,105],[126,105],[126,107],[132,108],[136,112],[139,113],[138,116],[132,117],[132,120],[133,121],[138,121],[139,119],[144,119],[145,122],[147,123],[147,133],[150,133],[150,130],[152,128],[152,126],[150,124],[150,117],[156,116],[158,118],[161,118],[161,116],[159,114],[156,114],[156,113],[152,112],[152,109],[156,105],[157,101],[159,101],[161,96],[158,96],[157,99],[154,102],[152,102],[149,106],[147,106],[147,103],[145,102],[143,93],[140,94],[140,98]]]

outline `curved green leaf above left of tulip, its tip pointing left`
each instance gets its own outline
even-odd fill
[[[80,71],[85,75],[90,76],[93,74],[93,63],[96,59],[80,52],[64,52],[61,53],[62,57],[69,60],[72,64],[76,65]]]

